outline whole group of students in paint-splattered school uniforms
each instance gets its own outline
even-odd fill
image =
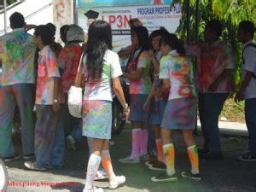
[[[205,41],[184,44],[177,35],[160,28],[148,34],[139,20],[131,20],[131,45],[114,53],[112,31],[108,22],[90,23],[84,46],[83,29],[75,25],[61,27],[62,48],[55,43],[53,24],[26,25],[23,15],[10,16],[13,29],[0,38],[3,74],[0,88],[0,157],[18,160],[12,143],[12,125],[16,105],[20,109],[23,158],[29,170],[63,168],[65,137],[72,143],[82,135],[88,138],[88,161],[84,192],[103,191],[93,185],[97,170],[107,173],[109,189],[125,183],[117,176],[109,153],[112,129],[112,91],[123,107],[125,119],[131,120],[131,155],[120,163],[134,164],[146,160],[148,169],[166,171],[152,177],[155,183],[177,180],[175,171],[174,131],[180,131],[187,146],[191,170],[182,177],[201,180],[199,159],[222,160],[218,116],[232,90],[235,55],[220,40],[222,26],[210,20]],[[27,31],[34,28],[34,35]],[[249,151],[239,157],[256,161],[256,45],[254,26],[241,21],[238,40],[243,45],[241,89],[236,101],[245,99],[249,132]],[[188,55],[197,58],[196,74]],[[120,60],[127,61],[123,68]],[[130,106],[125,101],[119,77],[130,82]],[[84,90],[83,118],[70,115],[68,90]],[[198,94],[197,94],[198,92]],[[203,148],[197,149],[193,130],[199,108]],[[37,120],[34,125],[33,110]],[[154,134],[156,157],[148,159],[148,132]]]

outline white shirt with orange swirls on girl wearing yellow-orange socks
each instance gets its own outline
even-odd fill
[[[192,65],[189,59],[172,50],[160,60],[160,79],[170,79],[168,100],[196,96],[192,82]]]

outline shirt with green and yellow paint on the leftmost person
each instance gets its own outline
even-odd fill
[[[35,83],[35,50],[32,35],[23,28],[15,29],[0,38],[3,86]]]

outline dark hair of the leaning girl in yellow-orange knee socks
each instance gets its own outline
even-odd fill
[[[166,34],[160,39],[160,45],[168,44],[172,49],[176,49],[178,55],[185,55],[186,50],[184,49],[183,40],[177,38],[173,33]]]

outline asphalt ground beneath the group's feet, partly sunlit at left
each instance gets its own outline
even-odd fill
[[[120,192],[253,192],[256,191],[256,163],[243,163],[236,161],[236,157],[247,150],[247,137],[221,138],[224,151],[224,160],[201,161],[201,182],[189,181],[179,177],[176,183],[152,183],[150,177],[160,172],[149,171],[143,163],[137,165],[119,164],[118,159],[130,154],[131,131],[125,130],[118,137],[113,137],[115,144],[111,146],[113,166],[117,174],[124,174],[126,183],[116,189]],[[202,143],[201,135],[196,137],[199,145]],[[85,143],[85,142],[84,142]],[[186,148],[177,132],[174,137],[176,147],[177,173],[190,169]],[[22,187],[9,186],[9,192],[31,191],[71,191],[82,192],[84,188],[84,170],[88,160],[85,144],[79,146],[78,151],[67,151],[66,167],[63,170],[51,170],[47,172],[27,171],[23,163],[25,160],[17,160],[7,164],[9,166],[9,185],[38,184],[38,186]],[[49,183],[61,183],[64,186],[46,186]],[[66,186],[65,186],[66,185]],[[96,182],[96,186],[106,187],[108,181]]]

